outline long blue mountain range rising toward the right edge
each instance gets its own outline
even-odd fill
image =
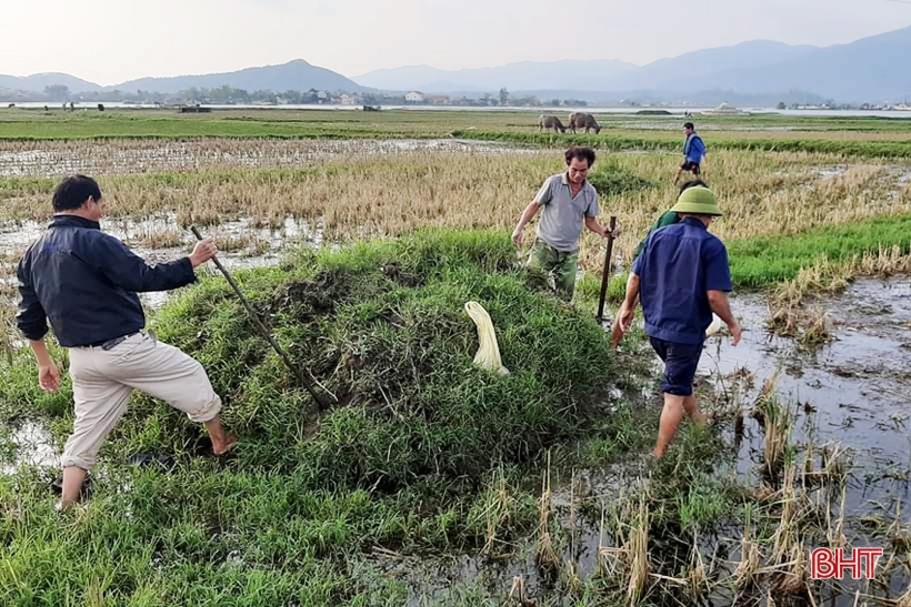
[[[785,99],[785,93],[802,91],[808,98],[840,102],[897,102],[911,98],[909,57],[911,28],[904,28],[825,48],[757,40],[642,67],[618,61],[525,62],[471,70],[416,65],[379,70],[354,80],[378,89],[433,93],[494,93],[507,87],[513,93],[584,91],[581,99],[633,94],[630,91],[661,99],[692,99],[700,93],[700,99],[718,102],[724,99],[721,94]]]

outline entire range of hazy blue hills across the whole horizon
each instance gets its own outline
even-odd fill
[[[271,90],[369,92],[409,90],[424,93],[513,94],[595,102],[768,104],[833,99],[837,102],[892,102],[911,99],[911,27],[849,44],[801,47],[767,40],[705,49],[635,67],[622,61],[552,61],[510,63],[494,68],[439,70],[410,65],[379,70],[350,80],[296,60],[281,65],[173,78],[142,78],[100,87],[64,73],[0,75],[0,91],[43,93],[64,85],[73,93],[137,90],[171,94],[188,89],[231,87],[248,92]],[[11,99],[22,99],[13,94]],[[41,95],[37,94],[40,99]]]

